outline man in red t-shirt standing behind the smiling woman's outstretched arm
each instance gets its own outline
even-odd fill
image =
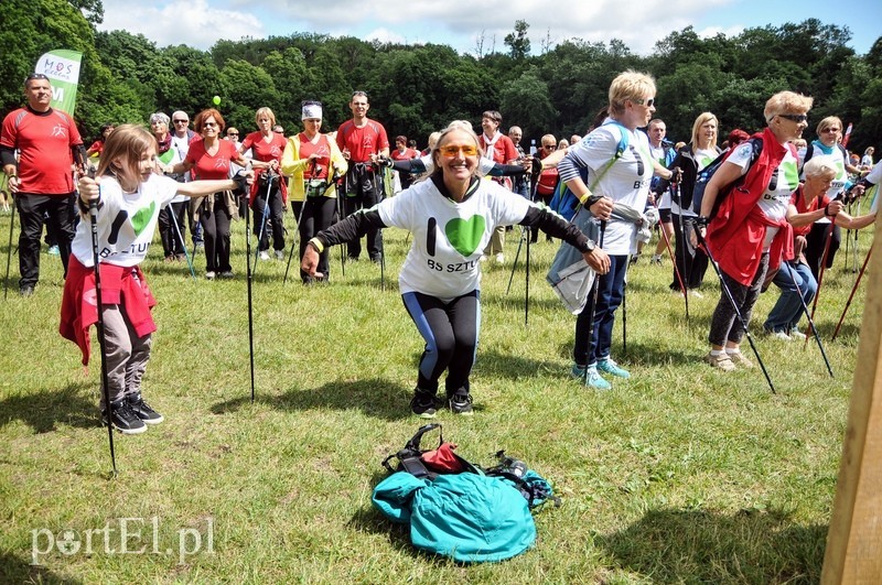
[[[367,117],[369,108],[367,94],[353,93],[349,101],[352,120],[346,120],[337,129],[337,147],[349,163],[344,199],[346,216],[358,209],[369,209],[383,196],[377,156],[389,156],[389,139],[383,124]],[[346,247],[349,260],[357,260],[362,253],[362,242],[351,241]],[[374,262],[383,258],[383,236],[379,230],[367,232],[367,253]]]

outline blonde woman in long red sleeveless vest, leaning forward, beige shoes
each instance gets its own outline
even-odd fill
[[[810,97],[793,91],[772,96],[763,111],[766,129],[754,137],[762,140],[762,149],[757,153],[755,140],[735,147],[704,188],[696,225],[701,234],[707,231],[707,245],[722,273],[723,288],[711,317],[711,349],[704,360],[723,371],[734,370],[736,365],[753,367],[741,354],[741,338],[766,270],[794,256],[787,210],[799,176],[790,141],[808,127],[811,104]],[[721,191],[728,195],[708,221]]]

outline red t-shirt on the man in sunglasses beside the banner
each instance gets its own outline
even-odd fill
[[[19,108],[3,119],[0,144],[19,149],[19,189],[40,195],[74,191],[72,147],[83,144],[74,120],[54,108],[37,113]]]

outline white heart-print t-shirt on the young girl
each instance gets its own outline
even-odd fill
[[[168,176],[150,175],[136,193],[126,193],[116,178],[101,177],[101,206],[98,209],[98,253],[103,262],[120,267],[141,263],[150,249],[159,210],[178,193],[180,183]],[[85,267],[93,267],[92,223],[84,219],[76,228],[72,253]]]

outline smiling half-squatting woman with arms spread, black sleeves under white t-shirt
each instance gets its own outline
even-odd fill
[[[322,251],[369,230],[394,226],[410,230],[398,285],[401,300],[426,340],[410,408],[424,419],[435,415],[439,379],[447,370],[447,399],[456,414],[472,414],[469,376],[481,325],[481,251],[497,226],[539,228],[579,249],[600,273],[609,258],[579,228],[546,207],[477,176],[482,156],[477,137],[451,124],[432,149],[428,180],[353,214],[309,241],[301,270],[316,278]]]

